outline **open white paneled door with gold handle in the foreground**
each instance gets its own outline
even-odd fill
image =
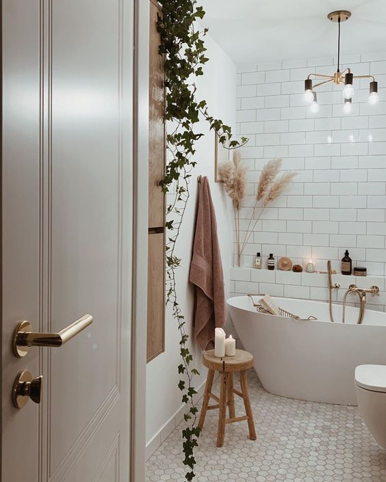
[[[3,482],[129,482],[133,18],[133,0],[3,0]],[[19,322],[84,314],[61,347],[12,352]],[[23,370],[41,401],[16,408]]]

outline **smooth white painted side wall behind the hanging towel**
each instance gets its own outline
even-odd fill
[[[226,124],[235,125],[236,69],[229,57],[220,47],[206,37],[207,57],[205,75],[196,82],[198,98],[208,102],[211,116],[222,119]],[[183,221],[183,228],[177,241],[176,255],[182,258],[177,269],[177,290],[179,303],[186,317],[186,330],[192,332],[193,289],[188,283],[192,243],[194,238],[194,219],[196,215],[197,176],[207,176],[211,186],[218,224],[218,237],[224,269],[226,294],[229,294],[229,269],[231,265],[231,232],[229,230],[230,204],[220,184],[214,183],[214,133],[209,133],[207,124],[197,124],[197,131],[206,133],[197,144],[196,168],[192,172],[190,184],[191,197]],[[179,355],[179,332],[176,322],[166,317],[166,351],[147,365],[146,380],[146,441],[148,455],[164,440],[175,427],[176,414],[181,409],[181,391],[177,388],[180,376],[177,366],[181,363]],[[196,343],[193,348],[194,365],[201,371],[196,377],[195,386],[205,381],[205,370],[201,366],[201,350]],[[179,420],[179,415],[177,415]]]

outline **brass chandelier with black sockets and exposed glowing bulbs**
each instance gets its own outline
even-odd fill
[[[350,68],[346,68],[343,72],[339,70],[340,66],[340,24],[346,22],[351,16],[351,12],[348,10],[337,10],[328,14],[327,18],[330,21],[338,24],[338,42],[337,42],[337,71],[334,75],[322,75],[322,74],[309,74],[305,79],[305,101],[311,106],[311,111],[317,112],[319,110],[318,99],[315,89],[324,83],[333,82],[335,85],[344,83],[344,111],[350,113],[352,109],[352,96],[355,94],[354,87],[352,85],[354,79],[371,79],[370,81],[370,93],[368,102],[369,104],[376,104],[378,102],[378,82],[372,75],[353,75]],[[326,79],[322,82],[313,85],[312,78]]]

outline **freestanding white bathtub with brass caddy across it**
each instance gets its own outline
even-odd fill
[[[244,348],[255,357],[263,387],[281,397],[357,405],[354,373],[360,364],[386,364],[386,313],[365,311],[357,325],[358,308],[304,299],[273,297],[280,308],[305,319],[261,314],[247,296],[227,300],[229,312]],[[254,297],[255,302],[259,296]]]

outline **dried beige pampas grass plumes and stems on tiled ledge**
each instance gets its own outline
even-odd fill
[[[233,209],[235,211],[235,235],[237,247],[237,265],[240,266],[241,256],[244,252],[246,243],[250,235],[254,232],[257,222],[259,221],[264,209],[281,196],[287,185],[292,181],[296,172],[287,172],[279,177],[281,170],[281,159],[272,159],[263,167],[261,171],[259,183],[255,197],[255,206],[253,206],[252,214],[246,228],[244,241],[240,241],[240,209],[242,208],[242,200],[245,196],[246,189],[246,168],[242,165],[240,159],[240,150],[233,151],[233,160],[224,162],[219,167],[221,180],[224,182],[225,190],[232,200]],[[255,217],[255,210],[260,204],[259,215]],[[252,225],[252,228],[251,228]]]

